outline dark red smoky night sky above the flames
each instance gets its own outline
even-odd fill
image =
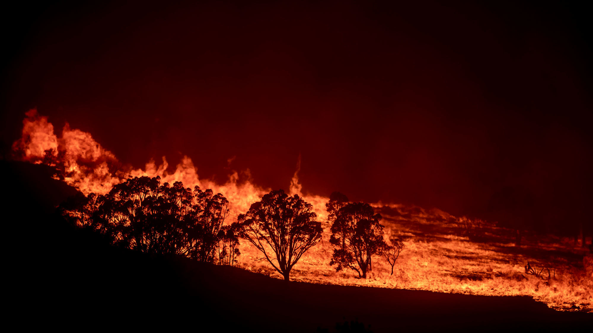
[[[37,107],[135,167],[188,155],[224,181],[235,156],[286,189],[301,153],[313,194],[591,221],[585,8],[162,6],[6,12],[3,149]]]

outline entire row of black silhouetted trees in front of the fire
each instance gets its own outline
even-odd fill
[[[321,241],[323,229],[313,206],[282,190],[265,194],[238,221],[225,225],[228,200],[212,190],[161,184],[160,177],[129,178],[105,195],[73,197],[60,205],[67,219],[98,232],[111,244],[148,254],[183,255],[196,261],[235,265],[240,239],[248,241],[289,281],[302,255]],[[393,266],[403,242],[383,239],[381,215],[366,203],[350,203],[340,193],[326,204],[334,246],[330,265],[359,278],[371,270],[372,256]]]

